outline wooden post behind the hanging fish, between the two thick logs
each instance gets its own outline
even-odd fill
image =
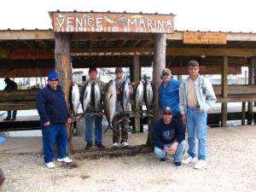
[[[139,55],[133,56],[133,82],[138,82],[140,80],[140,58]],[[134,115],[134,124],[135,124],[135,131],[139,132],[141,128],[141,122],[140,122],[140,114],[135,113]]]

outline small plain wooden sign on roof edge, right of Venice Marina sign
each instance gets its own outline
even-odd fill
[[[223,32],[183,32],[183,44],[227,44]]]

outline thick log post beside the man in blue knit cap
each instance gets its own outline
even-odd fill
[[[55,33],[55,71],[58,73],[59,83],[68,103],[68,92],[71,85],[70,65],[70,35],[68,33]],[[73,152],[72,125],[67,124],[68,149]]]

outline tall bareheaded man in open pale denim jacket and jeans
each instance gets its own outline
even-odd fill
[[[207,110],[216,102],[212,84],[199,74],[199,63],[189,61],[189,77],[179,87],[179,109],[187,123],[189,157],[183,164],[195,163],[195,136],[198,139],[198,162],[195,169],[207,166]]]

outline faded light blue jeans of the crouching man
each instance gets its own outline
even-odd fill
[[[172,143],[170,144],[165,144],[165,147],[170,147],[172,145]],[[185,151],[185,147],[186,147],[186,142],[185,140],[183,140],[181,143],[179,143],[177,145],[175,154],[174,154],[174,162],[181,162],[181,160],[183,159],[183,153]],[[158,148],[156,146],[154,146],[154,154],[156,157],[160,158],[160,159],[166,159],[167,157],[167,153],[163,148]]]

